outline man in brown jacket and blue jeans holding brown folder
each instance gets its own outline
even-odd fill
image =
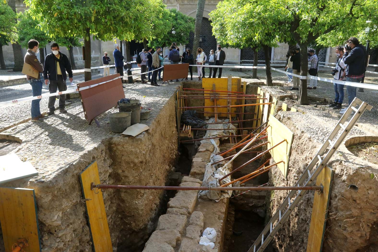
[[[39,42],[35,39],[31,39],[28,42],[28,51],[25,54],[24,62],[33,66],[39,72],[38,78],[26,75],[28,83],[31,85],[31,90],[33,91],[33,96],[40,96],[42,94],[42,83],[43,83],[43,65],[37,59],[36,54],[39,53]],[[39,109],[39,101],[41,99],[36,99],[31,101],[31,121],[32,122],[42,122],[43,116]]]

